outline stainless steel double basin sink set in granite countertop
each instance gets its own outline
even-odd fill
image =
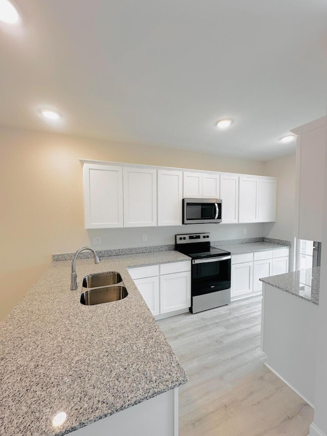
[[[84,289],[80,301],[86,306],[122,300],[128,295],[122,276],[116,271],[86,275],[82,284]]]

